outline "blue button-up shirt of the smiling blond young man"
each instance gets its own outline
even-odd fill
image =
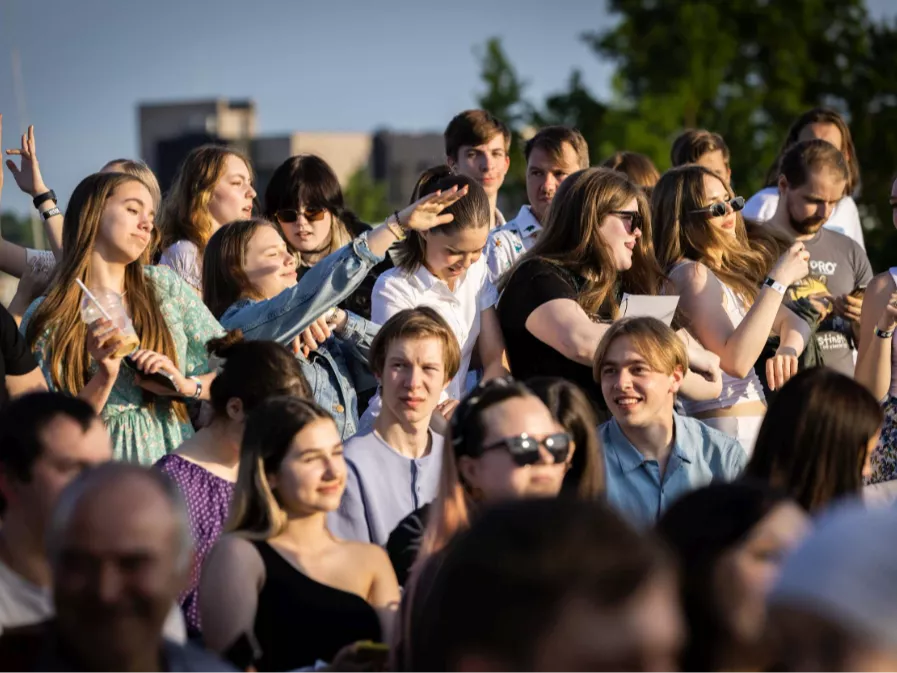
[[[607,500],[637,525],[654,525],[678,498],[711,481],[732,481],[747,464],[747,454],[734,437],[675,413],[673,427],[673,449],[663,479],[657,461],[646,459],[632,445],[616,418],[598,429]]]

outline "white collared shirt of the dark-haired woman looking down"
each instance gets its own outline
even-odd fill
[[[470,265],[449,290],[421,265],[412,274],[390,269],[380,275],[371,293],[371,322],[382,325],[399,311],[429,306],[452,328],[461,346],[461,366],[448,387],[450,397],[460,400],[470,368],[470,356],[480,336],[480,314],[495,306],[498,293],[489,281],[485,257]]]

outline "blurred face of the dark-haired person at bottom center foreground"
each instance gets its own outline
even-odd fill
[[[576,597],[536,649],[533,673],[676,673],[684,627],[676,584],[659,574],[624,605],[600,608]]]

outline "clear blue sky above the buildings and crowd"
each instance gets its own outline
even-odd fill
[[[892,2],[869,6],[893,15]],[[607,91],[611,74],[579,39],[610,25],[603,0],[0,4],[3,147],[16,146],[33,123],[44,177],[63,205],[84,175],[136,156],[143,101],[252,98],[263,134],[441,131],[473,105],[475,50],[491,36],[503,39],[537,100],[562,89],[574,67],[596,93]],[[27,118],[13,82],[14,49]],[[30,208],[8,171],[0,208]]]

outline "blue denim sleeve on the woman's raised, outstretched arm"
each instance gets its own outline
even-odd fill
[[[370,251],[367,234],[314,265],[299,282],[272,299],[250,303],[221,318],[252,340],[289,343],[331,306],[343,301],[383,261]]]

